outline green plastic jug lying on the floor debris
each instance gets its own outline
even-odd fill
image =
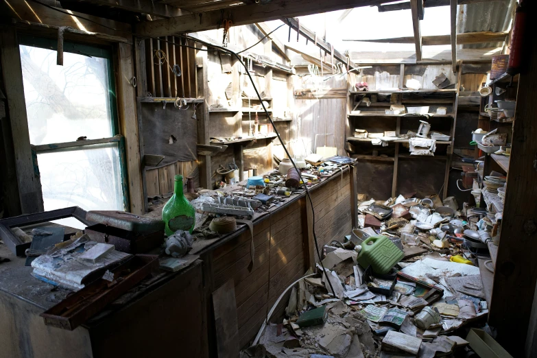
[[[368,237],[359,247],[356,261],[364,269],[371,265],[377,274],[387,274],[405,256],[403,251],[384,235]]]

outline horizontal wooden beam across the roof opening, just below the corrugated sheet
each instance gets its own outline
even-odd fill
[[[504,42],[505,38],[509,35],[508,32],[466,32],[464,34],[457,34],[458,45],[470,45],[475,43],[495,43]],[[422,45],[450,45],[451,34],[440,36],[422,36]],[[344,39],[344,41],[360,41],[362,43],[414,43],[414,37],[394,37],[394,38],[379,38],[377,40],[350,40]]]

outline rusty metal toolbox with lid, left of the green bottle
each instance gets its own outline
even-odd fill
[[[125,211],[88,211],[86,219],[97,224],[84,231],[93,241],[110,243],[116,250],[142,254],[164,242],[164,222]]]

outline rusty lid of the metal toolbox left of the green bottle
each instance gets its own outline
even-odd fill
[[[86,220],[133,232],[164,230],[164,222],[153,217],[143,217],[126,211],[88,211]]]

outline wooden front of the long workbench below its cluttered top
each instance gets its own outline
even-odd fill
[[[351,165],[310,188],[319,248],[350,234],[356,220],[356,211],[351,210],[357,207],[356,195],[351,194],[355,176]],[[196,241],[191,254],[199,254],[200,261],[178,274],[156,273],[142,289],[133,289],[141,291],[138,296],[72,332],[45,326],[38,315],[55,304],[52,296],[61,299],[60,295],[51,291],[51,285],[32,277],[32,268],[24,266],[24,259],[0,245],[0,256],[12,260],[0,264],[0,317],[8,317],[0,320],[0,357],[37,356],[37,350],[43,357],[52,353],[53,357],[72,357],[73,352],[88,357],[140,356],[147,349],[151,351],[144,356],[150,357],[176,351],[169,348],[180,349],[185,357],[215,357],[211,294],[229,280],[235,286],[239,344],[245,346],[259,330],[267,306],[270,309],[290,283],[318,262],[313,215],[305,192],[256,213],[253,222],[251,272],[250,230],[240,226],[228,235]],[[285,305],[287,298],[275,317]],[[189,344],[176,346],[178,338]]]

